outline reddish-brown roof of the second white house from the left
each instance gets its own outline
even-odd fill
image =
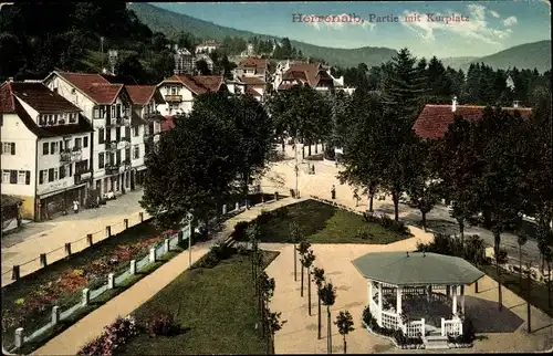
[[[53,72],[48,77],[53,74],[58,74],[60,77],[64,78],[72,85],[74,85],[79,91],[88,96],[94,103],[98,105],[111,105],[119,93],[123,91],[123,84],[112,84],[109,81],[104,78],[100,74],[88,74],[88,73],[69,73],[69,72]],[[46,77],[46,80],[48,80]]]

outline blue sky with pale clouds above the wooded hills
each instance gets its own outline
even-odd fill
[[[153,4],[238,30],[322,46],[406,46],[418,56],[483,56],[551,40],[551,7],[544,0]]]

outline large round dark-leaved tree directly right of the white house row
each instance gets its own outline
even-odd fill
[[[161,227],[175,228],[189,212],[205,221],[232,191],[238,137],[232,123],[209,112],[177,117],[146,155],[140,205]]]

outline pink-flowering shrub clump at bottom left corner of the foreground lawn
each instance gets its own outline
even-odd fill
[[[104,327],[102,335],[84,345],[79,356],[112,356],[118,352],[131,337],[139,334],[133,316],[117,317],[115,323]]]

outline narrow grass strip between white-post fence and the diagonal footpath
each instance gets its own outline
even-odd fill
[[[91,301],[91,303],[87,306],[80,308],[73,315],[71,315],[69,318],[60,322],[59,325],[51,328],[50,331],[48,331],[43,335],[39,336],[33,342],[24,344],[20,350],[20,354],[27,355],[27,354],[32,353],[33,350],[38,349],[39,347],[43,346],[50,339],[54,338],[55,336],[58,336],[59,334],[61,334],[65,329],[67,329],[71,325],[75,324],[81,318],[85,317],[86,315],[94,312],[95,310],[97,310],[98,307],[104,305],[105,303],[109,302],[115,296],[125,292],[131,286],[133,286],[136,282],[140,281],[143,278],[150,274],[152,272],[157,270],[159,266],[161,266],[165,262],[169,261],[170,259],[173,259],[175,255],[179,254],[182,251],[184,250],[181,248],[174,248],[173,251],[170,251],[169,253],[159,258],[155,263],[152,263],[152,264],[147,265],[146,268],[142,269],[140,271],[138,271],[137,274],[127,278],[126,280],[124,280],[123,282],[117,284],[113,290],[108,290],[108,291],[102,293],[96,299]],[[48,323],[48,321],[46,321],[46,323]],[[43,326],[43,325],[36,325],[36,327],[34,327],[34,328],[38,328],[40,326]]]

